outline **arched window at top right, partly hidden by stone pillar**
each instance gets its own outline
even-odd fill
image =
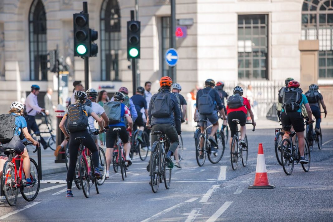
[[[319,40],[319,78],[333,78],[332,0],[303,2],[301,39]]]

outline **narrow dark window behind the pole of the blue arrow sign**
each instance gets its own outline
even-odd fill
[[[164,59],[166,50],[171,46],[171,36],[171,17],[162,17],[162,76],[172,76],[172,71]]]

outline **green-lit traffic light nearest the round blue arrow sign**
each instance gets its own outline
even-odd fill
[[[140,59],[140,22],[127,22],[127,58]]]

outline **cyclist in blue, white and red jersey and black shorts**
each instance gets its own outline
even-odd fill
[[[121,103],[119,106],[120,111],[120,116],[121,120],[118,123],[114,124],[109,124],[109,129],[107,130],[106,133],[106,178],[109,177],[109,168],[112,160],[112,154],[113,154],[113,148],[117,139],[117,133],[113,131],[114,128],[121,128],[121,131],[119,132],[119,136],[121,140],[123,141],[124,144],[124,150],[126,153],[126,160],[128,161],[129,165],[133,163],[131,157],[130,157],[130,151],[131,151],[131,143],[129,140],[129,135],[126,130],[126,123],[125,120],[128,123],[128,129],[132,130],[133,128],[133,120],[131,118],[131,112],[128,109],[128,107],[123,103],[125,101],[125,95],[121,92],[116,92],[115,95],[113,96],[114,101],[110,103]],[[104,106],[108,106],[110,103],[105,104]],[[116,112],[116,111],[115,111]]]

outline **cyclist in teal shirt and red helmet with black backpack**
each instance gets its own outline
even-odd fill
[[[305,109],[309,116],[309,123],[313,122],[312,112],[308,100],[304,94],[302,94],[302,90],[299,88],[299,82],[290,81],[288,83],[288,88],[283,90],[283,104],[281,110],[281,123],[284,128],[283,139],[289,139],[289,129],[288,126],[292,125],[298,136],[298,146],[299,152],[301,154],[300,163],[306,164],[309,161],[304,157],[304,121],[302,117],[302,104],[305,105]]]

